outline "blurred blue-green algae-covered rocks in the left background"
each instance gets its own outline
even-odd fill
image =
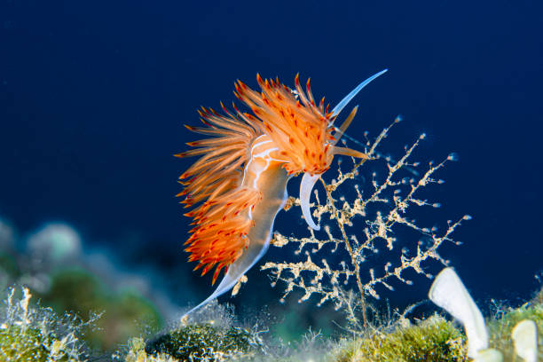
[[[46,224],[26,242],[16,235],[0,218],[0,290],[28,286],[35,295],[31,303],[40,301],[58,315],[75,312],[89,320],[101,313],[97,328],[84,327],[91,349],[109,353],[131,337],[162,327],[163,311],[154,303],[160,298],[126,282],[114,263],[84,254],[82,239],[69,225]]]

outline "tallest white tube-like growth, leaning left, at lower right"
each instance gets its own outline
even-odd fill
[[[483,314],[453,268],[445,268],[437,274],[429,290],[429,299],[458,319],[466,328],[468,357],[476,358],[478,351],[488,348]]]

